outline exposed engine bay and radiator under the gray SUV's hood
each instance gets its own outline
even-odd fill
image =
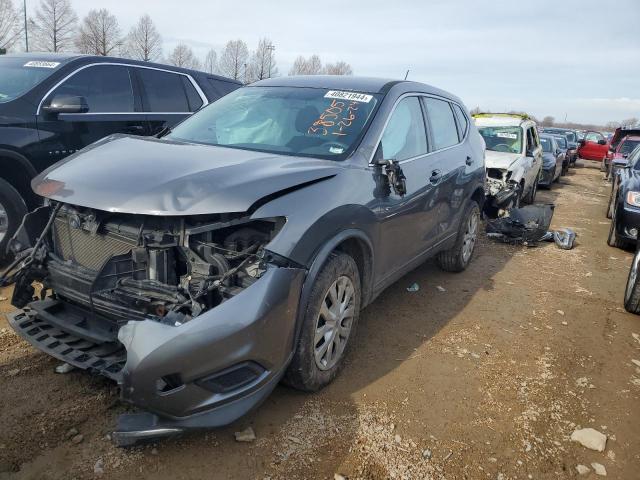
[[[116,324],[180,325],[252,285],[268,262],[283,261],[264,246],[284,221],[51,204],[25,217],[10,246],[17,269],[6,283],[16,283],[12,303],[19,308],[33,300],[35,281],[41,299],[59,298]]]

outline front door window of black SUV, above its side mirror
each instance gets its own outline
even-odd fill
[[[118,65],[94,65],[65,80],[55,95],[84,97],[89,113],[128,113],[134,111],[133,87],[129,68]]]

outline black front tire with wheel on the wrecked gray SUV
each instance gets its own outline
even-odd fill
[[[339,294],[339,285],[344,288],[342,290],[344,295],[342,295],[342,302],[338,303],[346,302],[347,309],[344,311],[350,311],[351,316],[343,317],[336,322],[329,315],[336,305],[331,300],[332,296],[335,298],[335,295]],[[347,300],[349,285],[352,288],[352,296]],[[305,308],[302,330],[283,383],[298,390],[315,392],[333,381],[353,345],[360,316],[361,298],[360,275],[356,262],[346,253],[332,254],[313,283],[307,305],[301,306]],[[329,302],[332,303],[331,306],[328,306]],[[337,311],[344,309],[339,305],[336,305],[336,308]],[[326,313],[321,313],[321,310]],[[335,328],[337,325],[342,325],[342,329]],[[348,330],[345,330],[347,326]],[[323,327],[326,330],[325,335],[317,337],[317,329]],[[340,333],[346,333],[346,337],[340,346],[336,346],[335,339],[340,340]],[[329,340],[327,335],[330,336]],[[322,354],[324,345],[328,346]],[[334,351],[335,348],[338,348],[338,354],[332,357],[329,350]]]

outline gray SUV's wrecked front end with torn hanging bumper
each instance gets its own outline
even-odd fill
[[[284,222],[51,202],[11,242],[5,283],[23,310],[9,321],[151,412],[121,418],[120,444],[227,424],[269,394],[292,350],[306,271],[266,248]]]

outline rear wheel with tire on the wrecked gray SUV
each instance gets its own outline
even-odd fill
[[[465,270],[473,254],[480,229],[480,208],[471,201],[462,218],[456,243],[449,250],[440,252],[436,257],[438,266],[445,272],[462,272]]]

